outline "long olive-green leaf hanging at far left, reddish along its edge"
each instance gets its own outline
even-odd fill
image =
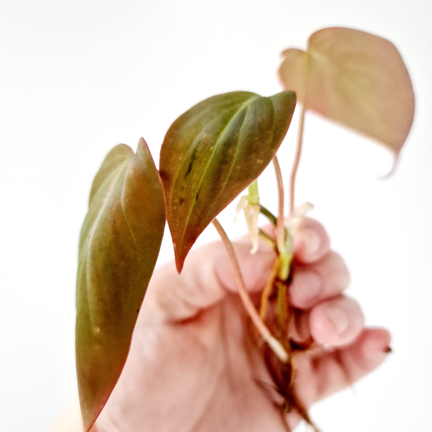
[[[146,142],[112,149],[90,192],[79,239],[76,370],[88,431],[118,381],[165,227],[162,186]]]

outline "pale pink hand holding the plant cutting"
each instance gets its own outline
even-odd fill
[[[245,285],[259,299],[275,255],[264,245],[235,252]],[[323,227],[305,219],[295,240],[289,295],[296,337],[317,347],[298,353],[296,391],[305,407],[375,369],[388,355],[387,330],[364,328],[343,294],[349,275]],[[97,421],[99,432],[285,432],[280,397],[256,344],[221,242],[191,251],[181,275],[173,263],[151,280],[123,373]],[[324,347],[325,348],[324,348]],[[300,421],[285,414],[290,428]],[[52,429],[82,432],[78,404]]]

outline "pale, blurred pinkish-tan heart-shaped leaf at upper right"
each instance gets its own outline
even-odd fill
[[[330,28],[311,35],[307,51],[291,48],[283,56],[282,82],[306,109],[365,133],[397,156],[413,122],[414,94],[391,42]]]

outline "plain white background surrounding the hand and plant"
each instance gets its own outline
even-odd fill
[[[338,25],[396,44],[416,116],[386,181],[378,180],[389,167],[378,147],[306,118],[298,202],[315,204],[311,216],[348,263],[349,294],[368,325],[391,330],[394,349],[376,372],[311,413],[325,432],[431,430],[431,5],[1,0],[0,429],[43,431],[76,392],[78,235],[109,149],[135,148],[143,136],[157,162],[178,115],[217,93],[279,92],[280,52]],[[281,149],[286,185],[297,122],[298,113]],[[276,210],[271,171],[260,188]],[[231,219],[222,216],[235,236],[244,226]],[[160,260],[173,255],[165,234]],[[211,228],[198,242],[209,238]]]

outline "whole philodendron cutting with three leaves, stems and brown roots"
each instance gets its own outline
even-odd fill
[[[306,51],[291,48],[283,57],[279,70],[283,92],[270,97],[244,91],[216,95],[182,114],[166,133],[159,171],[141,138],[135,153],[125,144],[115,146],[96,174],[79,241],[76,286],[76,369],[86,432],[126,362],[165,219],[178,272],[198,236],[213,222],[256,327],[256,343],[261,346],[264,341],[267,347],[263,356],[285,399],[281,410],[297,410],[317,430],[293,394],[292,354],[310,346],[290,338],[294,311],[287,295],[293,236],[311,208],[307,203],[294,206],[305,112],[315,111],[372,138],[396,158],[413,121],[414,95],[394,45],[365,32],[323,29],[309,38]],[[276,152],[296,100],[301,102],[301,123],[285,217]],[[257,186],[257,178],[272,161],[279,190],[277,215],[260,205]],[[245,213],[251,252],[260,237],[276,251],[258,308],[248,297],[232,245],[215,219],[245,189],[238,211]],[[276,226],[274,238],[258,229],[260,213]]]

